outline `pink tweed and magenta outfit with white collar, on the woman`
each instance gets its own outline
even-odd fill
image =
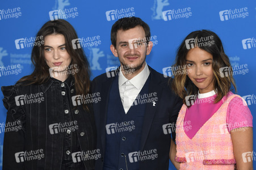
[[[194,104],[183,104],[176,125],[181,169],[234,169],[236,160],[230,130],[253,127],[253,117],[241,96],[229,92],[218,103],[214,91],[198,94]]]

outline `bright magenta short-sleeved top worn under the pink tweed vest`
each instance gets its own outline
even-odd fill
[[[229,92],[228,96],[230,95],[233,95],[233,93]],[[224,96],[222,100],[214,104],[216,96],[196,99],[194,105],[187,109],[183,129],[188,138],[192,139],[226,100],[226,96]],[[253,127],[253,116],[239,97],[234,97],[228,105],[226,124],[228,125],[228,131],[242,127]]]

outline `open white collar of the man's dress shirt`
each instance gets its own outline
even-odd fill
[[[146,80],[148,79],[149,74],[150,74],[150,70],[148,65],[146,64],[144,69],[139,74],[137,74],[131,80],[128,80],[123,75],[123,72],[121,71],[121,67],[120,67],[120,72],[118,77],[119,88],[123,86],[123,84],[128,80],[133,86],[135,86],[138,90],[140,90],[144,86]]]

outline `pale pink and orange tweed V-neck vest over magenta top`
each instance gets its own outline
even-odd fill
[[[187,107],[183,104],[176,124],[176,158],[186,158],[186,162],[181,162],[180,169],[234,169],[236,160],[232,138],[226,126],[228,105],[234,97],[241,98],[230,95],[192,139],[187,137],[183,128],[187,112]]]

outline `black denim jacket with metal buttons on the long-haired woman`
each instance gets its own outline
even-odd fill
[[[3,170],[62,169],[65,158],[74,160],[74,164],[83,163],[84,169],[94,169],[93,159],[75,157],[72,152],[77,150],[70,149],[69,154],[65,151],[68,130],[77,133],[75,137],[79,143],[79,147],[70,148],[80,148],[81,152],[86,152],[96,147],[92,106],[87,105],[88,112],[82,105],[73,104],[72,99],[69,99],[71,108],[67,111],[64,96],[75,96],[74,78],[68,83],[66,92],[62,88],[64,84],[53,78],[39,85],[24,86],[24,83],[19,83],[2,87],[3,104],[8,110],[3,142]],[[70,122],[66,122],[65,114],[72,116]]]

